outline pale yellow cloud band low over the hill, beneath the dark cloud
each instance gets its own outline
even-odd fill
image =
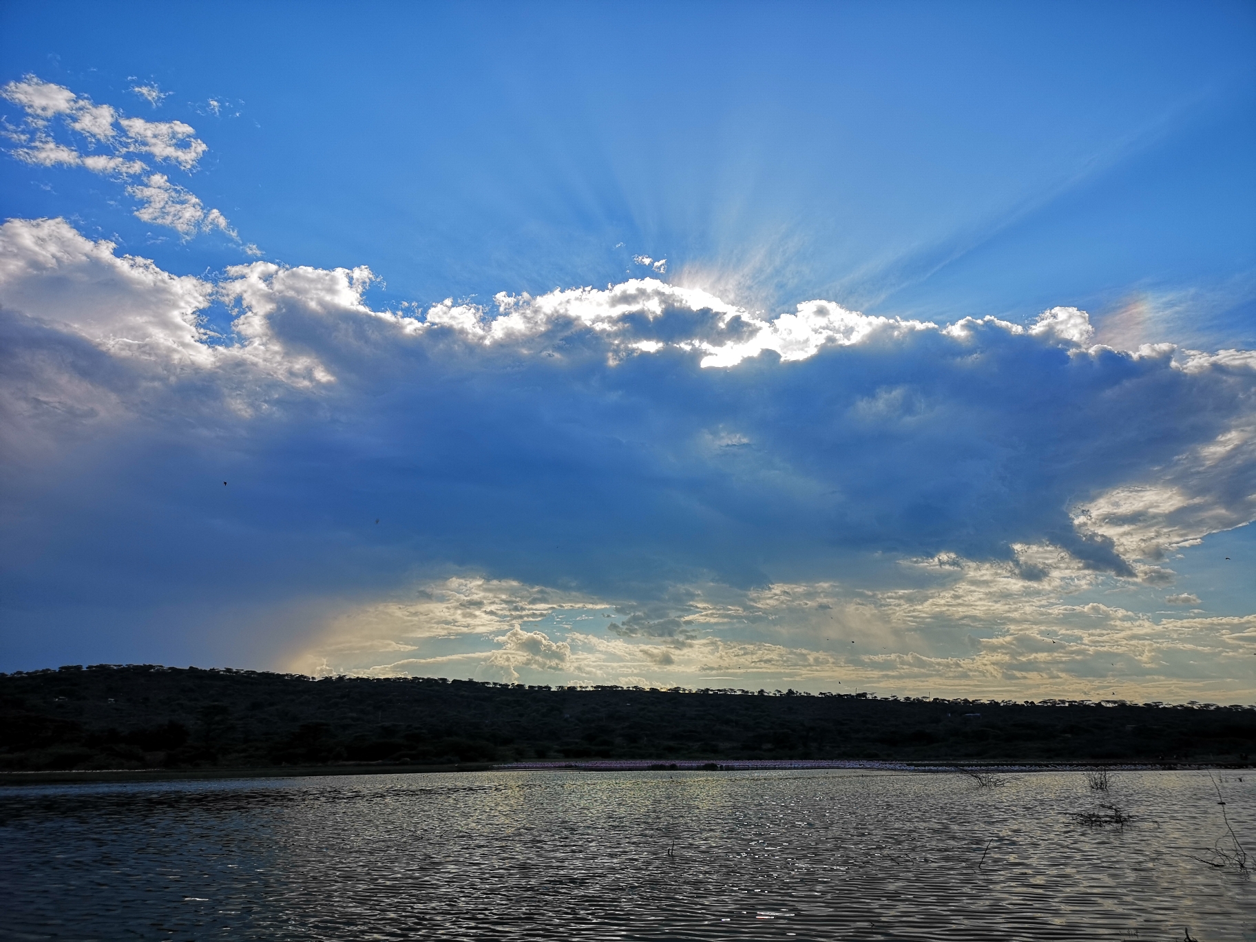
[[[322,663],[324,672],[389,676],[440,672],[456,663],[484,679],[529,683],[790,686],[1017,698],[1250,695],[1241,677],[1243,658],[1256,649],[1256,615],[1157,622],[1119,607],[1070,603],[1070,593],[1108,579],[1090,571],[1075,571],[1078,582],[1065,587],[1061,600],[1020,580],[1010,566],[958,569],[950,582],[906,594],[833,582],[731,594],[695,587],[702,614],[686,639],[607,637],[551,622],[544,632],[511,625],[507,634],[517,647],[526,639],[531,648],[519,653],[506,646],[509,657],[487,643],[502,646],[507,636],[494,641],[476,631],[461,636],[457,653],[428,653],[448,651],[448,639],[427,633],[411,637],[406,651],[412,656],[402,661],[383,644],[376,659],[358,661],[323,647],[294,667]],[[516,592],[524,598],[531,589]],[[921,603],[929,610],[918,610]]]

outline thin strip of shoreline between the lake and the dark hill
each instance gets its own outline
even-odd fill
[[[879,760],[770,760],[746,759],[731,761],[713,760],[632,760],[605,759],[571,762],[465,762],[456,765],[304,765],[304,766],[245,766],[201,769],[64,769],[44,771],[0,772],[0,788],[21,785],[70,785],[75,782],[139,782],[139,781],[200,781],[229,779],[304,779],[329,775],[416,775],[448,772],[490,771],[585,771],[585,772],[750,772],[750,771],[809,771],[848,770],[882,772],[1085,772],[1085,771],[1193,771],[1205,769],[1251,769],[1251,765],[1222,765],[1216,762],[893,762]]]

